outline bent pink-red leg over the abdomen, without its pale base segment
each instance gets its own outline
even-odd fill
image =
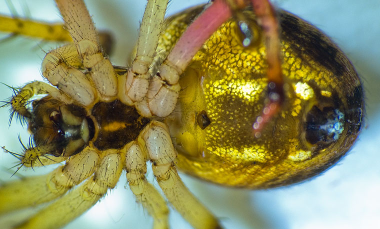
[[[268,92],[265,106],[253,123],[256,137],[261,135],[265,123],[280,110],[284,99],[283,78],[281,74],[280,42],[278,22],[275,11],[268,0],[250,0],[257,21],[262,28],[267,51]],[[248,4],[243,0],[215,0],[194,22],[186,29],[175,44],[172,51],[160,68],[160,76],[168,83],[176,83],[179,75],[191,61],[196,51],[204,41],[231,16],[230,9],[240,8]],[[230,6],[234,4],[233,6]]]

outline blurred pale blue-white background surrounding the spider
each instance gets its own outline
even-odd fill
[[[26,4],[30,17],[60,21],[54,2],[46,0],[13,0],[17,12]],[[27,2],[27,3],[26,3]],[[137,38],[138,22],[145,1],[87,0],[90,14],[99,29],[115,35],[111,60],[125,65]],[[178,12],[199,0],[171,0],[168,14]],[[181,175],[189,189],[220,220],[225,228],[378,228],[380,226],[380,1],[378,0],[276,0],[285,8],[312,22],[344,50],[362,77],[366,94],[365,126],[352,150],[337,165],[323,174],[300,184],[271,190],[232,189],[209,184]],[[0,13],[9,15],[5,0],[0,0]],[[0,38],[6,34],[0,33]],[[40,63],[44,52],[57,45],[35,39],[16,37],[0,42],[0,82],[20,86],[30,80],[41,80]],[[11,91],[0,84],[0,100]],[[0,108],[0,146],[19,152],[17,134],[28,140],[26,129],[15,121],[8,127],[8,110]],[[9,178],[16,159],[0,152],[0,182]],[[52,168],[36,169],[20,175],[40,174]],[[151,171],[149,180],[156,183]],[[122,174],[117,187],[94,207],[65,226],[68,228],[150,228],[152,220],[136,203]],[[1,204],[1,203],[0,203]],[[33,210],[31,210],[33,211]],[[0,217],[0,222],[20,220],[21,215]],[[175,211],[170,211],[171,228],[191,228]]]

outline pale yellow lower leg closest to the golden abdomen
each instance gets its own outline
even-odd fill
[[[153,174],[169,202],[194,228],[219,228],[216,218],[195,198],[180,179],[173,160],[174,150],[167,126],[152,121],[138,137],[140,148],[146,148]]]

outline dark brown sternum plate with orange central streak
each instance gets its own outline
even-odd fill
[[[150,121],[149,118],[141,117],[134,107],[119,100],[96,103],[91,115],[98,126],[93,144],[100,150],[123,147],[134,140]]]

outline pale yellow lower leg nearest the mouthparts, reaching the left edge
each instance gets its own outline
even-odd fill
[[[31,176],[0,186],[0,214],[56,199],[89,177],[98,160],[97,153],[87,148],[71,156],[64,166],[59,166],[48,174]]]

